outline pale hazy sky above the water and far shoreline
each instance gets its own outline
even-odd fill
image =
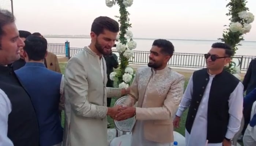
[[[13,1],[18,29],[42,34],[89,35],[96,17],[119,14],[118,5],[109,8],[105,0]],[[136,38],[217,39],[229,23],[228,1],[134,0],[128,8],[131,31]],[[256,0],[248,0],[247,7],[256,15]],[[246,41],[256,41],[255,22]]]

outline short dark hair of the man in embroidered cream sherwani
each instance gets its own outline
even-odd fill
[[[152,46],[158,46],[158,47],[162,48],[161,52],[163,54],[167,54],[167,55],[172,56],[173,53],[174,53],[173,44],[170,41],[166,40],[166,39],[156,39],[153,42]]]

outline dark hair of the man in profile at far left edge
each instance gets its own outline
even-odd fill
[[[14,23],[15,17],[14,15],[5,9],[0,9],[0,39],[5,34],[3,27],[7,24]],[[1,43],[0,43],[0,49],[1,49]]]

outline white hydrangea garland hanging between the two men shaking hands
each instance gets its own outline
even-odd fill
[[[132,40],[133,34],[128,28],[131,27],[129,23],[129,12],[127,7],[131,7],[133,0],[106,0],[106,5],[108,7],[113,7],[113,5],[119,5],[120,16],[115,16],[119,18],[118,22],[120,25],[120,32],[117,37],[116,50],[119,53],[121,60],[120,69],[117,72],[112,72],[109,75],[110,80],[116,80],[119,88],[128,88],[131,84],[131,80],[134,76],[133,69],[128,67],[129,59],[133,57],[133,49],[137,47],[137,43]]]

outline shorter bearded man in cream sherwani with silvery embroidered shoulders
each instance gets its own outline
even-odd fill
[[[173,142],[172,116],[184,89],[184,76],[167,67],[173,52],[171,42],[164,39],[153,42],[148,67],[137,70],[125,103],[128,106],[124,105],[116,115],[115,120],[136,115],[131,146],[170,146]]]

